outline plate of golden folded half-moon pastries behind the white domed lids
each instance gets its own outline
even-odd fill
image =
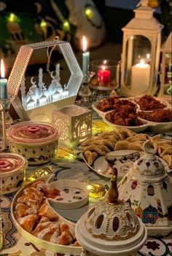
[[[121,179],[129,170],[130,164],[144,154],[143,144],[147,139],[151,139],[157,155],[164,160],[166,166],[172,168],[172,141],[163,139],[160,134],[149,136],[145,133],[137,134],[128,128],[120,128],[118,131],[114,129],[98,133],[92,139],[82,142],[80,148],[87,166],[102,177],[112,176],[106,158],[116,159],[118,178]]]

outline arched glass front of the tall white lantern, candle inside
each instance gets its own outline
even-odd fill
[[[125,54],[125,86],[136,93],[149,88],[152,45],[145,36],[130,36]]]

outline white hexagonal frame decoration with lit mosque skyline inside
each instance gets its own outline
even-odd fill
[[[69,67],[71,76],[69,81],[65,86],[61,86],[59,79],[60,77],[55,77],[55,85],[52,85],[54,91],[53,96],[51,93],[47,94],[47,99],[45,100],[45,92],[47,90],[44,88],[44,83],[42,82],[42,69],[39,69],[39,85],[36,87],[33,79],[31,79],[31,87],[26,95],[26,88],[23,85],[23,77],[25,76],[26,68],[28,62],[31,59],[31,55],[34,50],[39,50],[41,48],[53,49],[53,47],[58,47],[60,53],[63,54],[66,64]],[[58,74],[59,66],[56,66],[55,74]],[[53,76],[51,75],[52,80]],[[79,87],[82,82],[82,71],[77,63],[77,59],[74,56],[73,50],[69,42],[59,41],[57,39],[48,42],[38,42],[35,44],[27,44],[20,47],[19,53],[15,60],[14,66],[12,68],[11,74],[8,79],[8,93],[10,96],[15,96],[12,101],[12,106],[14,106],[17,115],[19,115],[21,120],[43,120],[51,122],[52,120],[52,110],[57,107],[66,106],[69,104],[74,104],[74,100],[77,96]],[[50,88],[50,86],[49,86]],[[49,89],[48,88],[48,89]],[[22,102],[18,97],[18,91],[21,90]],[[60,89],[60,90],[58,90]],[[35,103],[33,101],[35,94],[37,93],[37,98]],[[27,97],[30,98],[27,98]],[[34,97],[33,97],[34,96]]]

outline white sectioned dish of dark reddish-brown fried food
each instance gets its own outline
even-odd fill
[[[146,130],[168,131],[171,128],[171,104],[162,98],[106,98],[93,104],[103,121],[114,128],[129,128],[136,133]]]

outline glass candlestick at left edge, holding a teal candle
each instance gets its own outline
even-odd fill
[[[6,130],[12,125],[12,117],[9,115],[9,106],[14,99],[13,96],[0,99],[0,113],[1,113],[1,126],[0,126],[0,151],[7,150],[7,133]]]

